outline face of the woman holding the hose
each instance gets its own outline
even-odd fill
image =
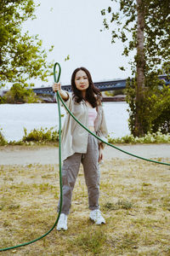
[[[79,70],[75,76],[75,84],[78,90],[87,90],[89,86],[88,76],[83,70]]]

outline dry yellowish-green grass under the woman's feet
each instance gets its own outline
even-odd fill
[[[166,160],[167,162],[170,159]],[[0,247],[46,233],[57,217],[59,166],[0,166]],[[106,224],[88,218],[82,167],[68,230],[2,255],[170,255],[170,168],[142,160],[110,160],[100,167],[100,209]]]

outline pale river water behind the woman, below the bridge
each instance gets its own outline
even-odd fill
[[[126,102],[104,102],[105,119],[112,137],[130,134],[127,125],[128,113]],[[61,108],[61,113],[65,109]],[[65,117],[62,118],[62,122]],[[34,128],[58,126],[57,104],[1,104],[0,128],[8,141],[18,141],[24,136],[23,127],[27,131]],[[113,134],[112,134],[113,133]]]

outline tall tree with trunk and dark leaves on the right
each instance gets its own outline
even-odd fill
[[[122,40],[124,43],[122,54],[128,56],[131,50],[136,50],[134,60],[130,61],[134,79],[127,81],[130,85],[127,86],[127,102],[130,107],[130,129],[134,136],[143,136],[152,128],[153,116],[150,120],[148,114],[152,113],[151,108],[155,108],[148,97],[152,92],[155,92],[156,96],[160,95],[158,91],[160,81],[157,76],[162,73],[161,67],[166,71],[170,63],[170,2],[169,0],[115,0],[115,2],[120,4],[119,11],[112,12],[109,7],[107,10],[103,9],[101,14],[111,16],[109,24],[107,18],[104,19],[104,26],[110,29],[111,23],[114,24],[112,43],[115,43],[116,38]],[[121,69],[123,70],[124,67]],[[151,104],[150,107],[148,102]]]

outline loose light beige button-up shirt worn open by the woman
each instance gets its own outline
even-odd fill
[[[71,113],[82,123],[82,125],[88,128],[88,106],[85,101],[80,103],[75,102],[72,93],[67,92],[68,100],[65,101],[65,105]],[[105,140],[108,131],[105,123],[105,113],[102,106],[97,108],[97,118],[94,121],[94,130],[98,137]],[[101,143],[98,140],[99,143]],[[102,143],[104,148],[105,143]],[[74,153],[85,154],[88,147],[88,131],[82,128],[81,125],[77,123],[71,117],[71,114],[66,112],[65,123],[63,125],[61,133],[61,149],[62,149],[62,160],[65,160],[67,157],[71,156]]]

